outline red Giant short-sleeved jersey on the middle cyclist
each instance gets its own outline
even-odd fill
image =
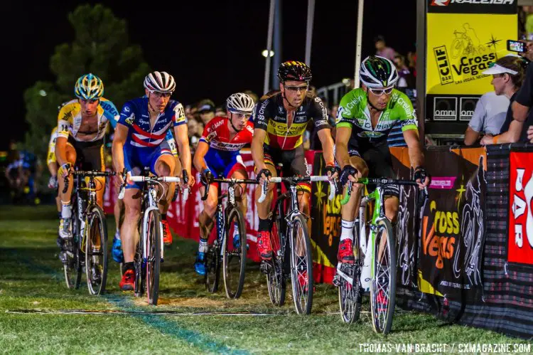
[[[252,143],[254,134],[254,124],[246,122],[246,126],[235,134],[230,140],[230,128],[227,127],[227,117],[213,117],[205,125],[200,142],[209,144],[210,149],[217,149],[226,152],[239,152],[246,144]]]

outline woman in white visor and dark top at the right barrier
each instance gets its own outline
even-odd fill
[[[530,118],[527,117],[527,111],[525,112],[526,115],[520,115],[519,117],[517,117],[517,112],[515,112],[516,103],[520,107],[527,107],[527,110],[529,110],[531,105],[531,85],[533,84],[531,75],[533,75],[533,67],[528,68],[527,73],[530,77],[524,81],[525,65],[522,58],[515,55],[507,55],[498,59],[492,68],[483,72],[483,74],[492,74],[492,85],[494,85],[496,94],[509,97],[510,106],[507,109],[505,122],[500,130],[502,133],[496,136],[485,134],[485,137],[481,139],[481,144],[514,143],[519,140],[526,141],[527,129],[523,129],[524,121],[527,118],[529,122]],[[524,82],[523,86],[522,82]],[[520,89],[520,86],[522,86],[522,89]],[[520,91],[518,92],[519,89]],[[513,120],[513,117],[515,117],[515,120]],[[522,118],[523,120],[520,120]]]

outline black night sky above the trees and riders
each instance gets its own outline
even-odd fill
[[[74,37],[67,14],[79,4],[102,1],[9,1],[0,25],[4,70],[4,112],[0,150],[21,140],[27,128],[23,90],[37,80],[52,80],[49,62],[55,46]],[[269,1],[103,2],[125,18],[130,43],[138,43],[154,70],[176,78],[173,98],[185,104],[210,97],[220,105],[232,92],[262,94]],[[304,60],[307,0],[282,1],[281,60]],[[156,6],[158,5],[158,6]],[[317,0],[311,68],[321,87],[353,76],[357,1]],[[373,53],[372,38],[383,34],[399,53],[414,50],[415,0],[365,1],[362,54]],[[74,85],[74,83],[72,83]],[[142,83],[139,83],[142,85]],[[109,97],[113,100],[112,97]],[[59,104],[59,102],[58,102]]]

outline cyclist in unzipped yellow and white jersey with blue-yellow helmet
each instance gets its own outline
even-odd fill
[[[60,166],[58,185],[61,198],[61,218],[59,234],[63,241],[72,240],[70,218],[72,206],[72,171],[75,164],[83,170],[104,170],[104,134],[110,120],[117,120],[119,112],[113,103],[104,97],[104,84],[94,74],[82,75],[74,88],[77,100],[69,101],[61,107],[58,115],[58,137],[55,142],[55,157]],[[68,178],[68,190],[63,193],[65,178]],[[104,196],[104,179],[97,190],[97,203],[102,206]],[[70,243],[63,243],[68,245]],[[62,248],[64,249],[64,248]]]

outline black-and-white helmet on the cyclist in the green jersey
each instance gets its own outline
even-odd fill
[[[362,61],[359,78],[367,88],[389,88],[399,79],[396,66],[391,60],[370,55]]]

